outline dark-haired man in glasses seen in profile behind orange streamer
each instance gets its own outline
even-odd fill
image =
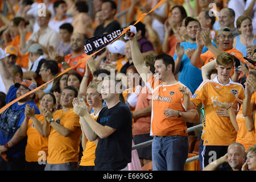
[[[46,60],[39,71],[39,75],[42,77],[44,83],[52,80],[55,76],[59,73],[59,67],[56,61]],[[49,82],[46,86],[42,89],[36,91],[36,96],[38,96],[39,100],[44,96],[46,93],[50,93],[52,89],[53,81]]]

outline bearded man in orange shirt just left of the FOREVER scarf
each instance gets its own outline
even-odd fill
[[[85,41],[85,37],[80,33],[75,33],[71,36],[70,47],[73,52],[65,56],[65,61],[60,60],[61,72],[63,72],[64,69],[75,66],[80,59],[86,57],[86,53],[84,53],[84,41]],[[75,71],[79,73],[81,76],[84,76],[85,66],[86,66],[86,61],[78,65],[75,68]]]

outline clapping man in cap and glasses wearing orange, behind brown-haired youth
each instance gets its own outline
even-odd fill
[[[217,48],[213,46],[210,40],[209,32],[203,30],[197,32],[196,43],[197,49],[191,56],[191,64],[194,67],[203,67],[203,65],[209,63],[210,61],[216,59],[221,52],[228,52],[236,56],[237,59],[243,60],[243,55],[236,48],[233,48],[233,31],[229,27],[222,27],[218,30],[218,35],[216,38]],[[207,47],[209,50],[202,53],[203,47]]]

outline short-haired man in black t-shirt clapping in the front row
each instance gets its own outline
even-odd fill
[[[85,133],[89,141],[99,137],[95,151],[96,170],[128,170],[127,164],[131,162],[132,117],[129,107],[120,102],[122,90],[116,88],[121,81],[106,77],[101,84],[102,99],[108,107],[104,107],[94,121],[84,104],[75,104],[74,111],[84,118],[86,123]]]

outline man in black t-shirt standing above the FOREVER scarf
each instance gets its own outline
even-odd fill
[[[114,1],[105,0],[101,5],[101,11],[104,15],[104,23],[96,27],[96,30],[93,34],[94,36],[100,36],[102,34],[121,29],[119,22],[114,20],[114,16],[117,13],[117,5]]]

